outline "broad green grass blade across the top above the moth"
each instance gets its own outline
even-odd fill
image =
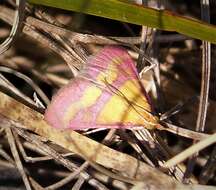
[[[160,30],[176,31],[216,44],[216,26],[169,11],[151,9],[126,0],[28,0],[30,3],[110,18]]]

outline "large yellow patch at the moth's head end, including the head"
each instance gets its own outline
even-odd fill
[[[151,106],[137,80],[126,81],[119,91],[125,98],[114,94],[98,115],[97,123],[143,125],[147,128],[153,128],[158,123],[157,117],[151,114]]]

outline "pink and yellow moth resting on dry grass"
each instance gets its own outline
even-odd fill
[[[127,51],[107,46],[52,98],[45,120],[55,128],[153,129],[158,117]]]

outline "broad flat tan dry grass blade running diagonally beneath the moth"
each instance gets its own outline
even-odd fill
[[[25,127],[26,129],[32,130],[56,144],[83,156],[90,163],[96,162],[105,167],[113,168],[116,171],[124,173],[124,175],[127,175],[128,177],[136,177],[136,180],[138,181],[144,180],[145,184],[150,183],[154,188],[158,189],[159,187],[161,188],[161,186],[164,186],[164,188],[170,190],[179,189],[180,187],[191,189],[191,186],[181,185],[165,174],[162,174],[158,170],[149,167],[145,163],[138,161],[129,155],[117,152],[82,136],[81,134],[74,131],[59,131],[51,128],[44,122],[41,114],[18,103],[7,95],[0,93],[0,98],[0,112],[4,116],[1,117],[2,124],[7,120],[7,122],[12,122],[15,126]],[[153,181],[154,183],[152,184]],[[195,186],[194,189],[196,189]],[[211,187],[206,186],[205,189],[211,189]]]

